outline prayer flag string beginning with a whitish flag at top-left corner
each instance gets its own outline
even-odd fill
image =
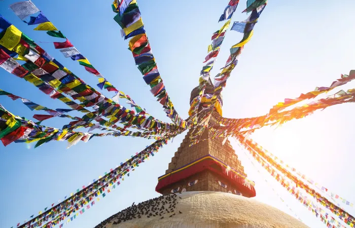
[[[55,49],[59,49],[59,51],[64,55],[65,58],[72,58],[75,61],[78,61],[80,65],[83,65],[86,71],[96,75],[99,80],[99,84],[97,86],[100,89],[107,89],[108,91],[114,91],[118,94],[121,91],[118,91],[107,79],[103,78],[103,76],[96,70],[96,68],[89,62],[89,60],[84,57],[70,42],[66,39],[66,37],[59,31],[53,24],[48,20],[48,18],[37,8],[34,6],[32,2],[18,2],[12,4],[10,8],[15,12],[16,15],[22,15],[21,11],[27,12],[25,17],[31,15],[29,12],[40,12],[40,14],[36,17],[30,17],[29,22],[26,22],[28,25],[39,24],[34,30],[44,30],[47,31],[47,34],[54,37],[59,37],[65,39],[64,42],[54,42]],[[35,10],[34,10],[35,9]],[[32,13],[32,14],[34,14]],[[132,15],[131,15],[132,16]],[[23,18],[21,18],[23,20]],[[104,82],[103,82],[104,81]],[[104,84],[104,86],[100,86]],[[128,96],[129,97],[129,96]],[[129,102],[133,102],[132,99],[125,97]],[[137,104],[134,104],[139,109],[142,109]]]

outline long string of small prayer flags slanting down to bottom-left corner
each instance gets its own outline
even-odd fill
[[[138,167],[139,164],[146,162],[153,153],[158,152],[159,148],[167,143],[167,140],[168,139],[164,139],[153,142],[150,146],[136,153],[126,162],[121,163],[117,168],[111,169],[110,172],[105,173],[104,176],[100,176],[98,180],[94,179],[93,183],[90,183],[86,187],[83,186],[82,189],[78,189],[75,194],[70,194],[70,197],[59,202],[57,205],[54,206],[54,204],[52,204],[52,207],[49,207],[49,209],[44,212],[40,211],[38,216],[31,216],[28,221],[18,225],[18,227],[27,228],[43,226],[44,224],[59,224],[61,220],[66,218],[69,218],[70,221],[75,219],[80,211],[83,211],[85,207],[88,208],[87,206],[90,204],[92,206],[95,199],[99,201],[101,195],[103,198],[106,194],[110,193],[112,189],[115,188],[113,186],[120,184],[120,179],[124,180],[125,175],[128,175],[128,173],[133,171],[135,167]]]

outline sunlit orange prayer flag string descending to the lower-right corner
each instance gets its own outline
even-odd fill
[[[326,197],[324,197],[321,194],[319,194],[318,192],[314,191],[314,189],[310,188],[306,183],[304,183],[301,179],[299,179],[295,175],[293,175],[290,171],[288,171],[281,164],[278,164],[271,157],[267,156],[263,152],[263,150],[260,149],[261,148],[260,145],[253,142],[252,140],[246,139],[242,136],[239,136],[238,140],[253,155],[253,157],[256,158],[256,161],[261,163],[262,166],[266,170],[269,171],[270,169],[272,170],[273,168],[275,168],[276,170],[278,170],[282,174],[282,175],[276,174],[277,171],[273,171],[273,172],[269,171],[270,174],[276,180],[278,180],[283,187],[288,189],[288,191],[292,192],[292,191],[294,191],[294,189],[292,189],[289,184],[286,184],[285,178],[288,178],[289,180],[293,181],[297,187],[304,189],[304,191],[307,194],[309,194],[312,198],[315,198],[318,203],[322,204],[322,206],[329,209],[333,214],[337,215],[345,223],[349,224],[351,227],[354,226],[355,218],[352,215],[350,215],[345,210],[339,208],[337,205],[330,202]],[[265,161],[267,161],[267,163]],[[296,194],[296,195],[298,196],[298,194]],[[307,201],[306,202],[303,201],[302,203],[307,204],[307,206],[309,206]]]

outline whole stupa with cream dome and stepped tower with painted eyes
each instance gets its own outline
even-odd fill
[[[211,84],[206,90],[212,90]],[[190,101],[197,96],[191,93]],[[222,106],[222,98],[219,99]],[[221,109],[216,110],[222,115]],[[158,177],[162,196],[132,205],[95,227],[307,227],[296,218],[260,203],[230,142],[209,138],[189,146],[191,131]]]

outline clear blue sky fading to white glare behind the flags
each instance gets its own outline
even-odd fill
[[[45,48],[85,82],[93,87],[96,78],[76,62],[65,59],[52,44],[59,41],[45,32],[33,31],[9,9],[16,1],[0,2],[0,13],[35,42]],[[188,117],[190,91],[197,86],[202,61],[207,54],[212,32],[222,23],[218,19],[229,0],[223,1],[138,1],[152,50],[169,96],[176,110]],[[150,94],[149,87],[134,65],[128,42],[120,35],[113,20],[112,1],[39,1],[33,3],[82,52],[89,61],[119,90],[129,94],[156,118],[169,121],[161,105]],[[233,20],[247,17],[240,12]],[[284,98],[294,98],[316,86],[329,86],[355,69],[353,25],[355,2],[270,0],[255,26],[254,37],[245,46],[237,68],[223,93],[225,117],[244,118],[263,115]],[[212,75],[225,63],[229,48],[241,34],[228,31]],[[0,69],[0,89],[30,99],[49,108],[66,108],[31,84]],[[355,88],[355,83],[343,89]],[[337,90],[334,90],[337,92]],[[105,95],[113,96],[107,91]],[[121,102],[124,102],[121,100]],[[0,97],[15,115],[30,119],[35,113],[20,100]],[[45,114],[45,113],[43,113]],[[285,162],[308,174],[335,193],[355,202],[352,162],[353,104],[336,105],[316,111],[302,120],[286,123],[274,130],[265,128],[251,136]],[[44,121],[47,126],[61,128],[68,119]],[[171,157],[185,134],[177,136],[151,161],[141,165],[120,187],[65,227],[92,227],[101,220],[130,206],[159,196],[155,191],[157,177],[164,174]],[[50,142],[33,149],[34,144],[0,145],[0,179],[2,200],[0,227],[11,227],[32,214],[63,200],[64,196],[87,185],[110,168],[130,158],[151,141],[140,138],[93,138],[65,149],[65,142]],[[244,156],[232,144],[248,177],[256,182],[259,201],[290,213]],[[265,172],[263,172],[265,173]],[[268,174],[267,174],[268,175]],[[267,176],[272,186],[310,227],[324,226],[278,183]],[[351,214],[354,209],[344,206]]]

